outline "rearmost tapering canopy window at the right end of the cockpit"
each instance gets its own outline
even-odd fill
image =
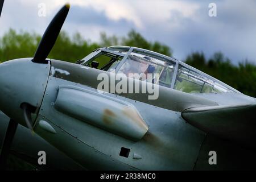
[[[179,65],[175,80],[174,89],[187,93],[226,93],[233,92],[221,82],[192,71],[189,68]]]

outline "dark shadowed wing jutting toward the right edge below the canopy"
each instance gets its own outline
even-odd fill
[[[206,133],[256,150],[256,115],[252,114],[255,110],[256,104],[194,107],[184,110],[181,115]]]

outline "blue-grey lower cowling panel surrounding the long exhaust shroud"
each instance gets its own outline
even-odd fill
[[[51,137],[38,126],[35,131],[82,166],[88,169],[193,169],[205,134],[185,123],[180,112],[102,93],[103,96],[110,97],[110,101],[126,102],[138,111],[135,114],[132,110],[122,110],[123,117],[127,114],[134,121],[143,118],[149,129],[141,140],[135,142],[57,110],[55,101],[61,85],[73,85],[98,94],[97,89],[50,76],[47,97],[44,97],[38,121],[43,119],[51,123],[57,133],[55,137]],[[86,101],[83,103],[86,105]],[[94,107],[93,104],[89,106]],[[107,107],[102,109],[101,116],[102,114],[111,118],[121,113]],[[107,120],[113,122],[112,119]],[[121,147],[130,149],[128,158],[119,155]],[[133,159],[134,152],[142,159]]]

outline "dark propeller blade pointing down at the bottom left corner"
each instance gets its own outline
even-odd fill
[[[13,138],[18,126],[18,122],[15,122],[13,119],[10,119],[9,125],[7,127],[7,131],[5,134],[5,138],[3,139],[2,147],[1,147],[1,155],[0,155],[0,169],[5,169],[7,156],[9,154],[9,150],[11,147],[11,143],[13,142]]]

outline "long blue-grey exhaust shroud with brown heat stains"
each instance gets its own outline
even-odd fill
[[[135,107],[77,86],[60,85],[55,108],[81,121],[133,140],[140,140],[148,130]]]

